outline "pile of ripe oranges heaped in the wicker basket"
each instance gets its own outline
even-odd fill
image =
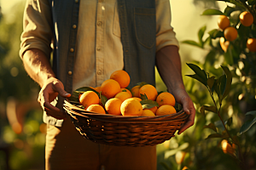
[[[163,116],[176,113],[175,99],[168,92],[158,93],[153,85],[141,82],[127,88],[130,76],[126,71],[114,71],[100,87],[79,94],[84,110],[115,116]],[[102,98],[105,102],[102,102]]]

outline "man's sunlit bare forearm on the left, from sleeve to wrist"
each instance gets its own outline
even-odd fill
[[[26,72],[40,87],[50,77],[55,77],[49,64],[49,58],[39,49],[29,49],[22,57]]]

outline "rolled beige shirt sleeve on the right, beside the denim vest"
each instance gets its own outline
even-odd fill
[[[176,33],[171,26],[172,14],[169,0],[156,0],[156,51],[168,45],[179,48]]]

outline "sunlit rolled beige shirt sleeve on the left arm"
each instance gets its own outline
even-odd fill
[[[23,16],[23,32],[20,37],[20,57],[28,49],[38,48],[49,56],[52,48],[52,19],[47,0],[27,0]]]

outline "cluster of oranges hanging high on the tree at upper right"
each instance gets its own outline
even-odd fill
[[[244,11],[239,15],[239,20],[242,26],[252,26],[253,14]],[[224,31],[224,37],[219,39],[219,43],[224,52],[226,52],[230,42],[236,40],[238,32],[235,27],[230,26],[230,19],[225,15],[218,17],[218,27]],[[247,39],[247,48],[250,52],[256,52],[256,38],[250,37]]]

